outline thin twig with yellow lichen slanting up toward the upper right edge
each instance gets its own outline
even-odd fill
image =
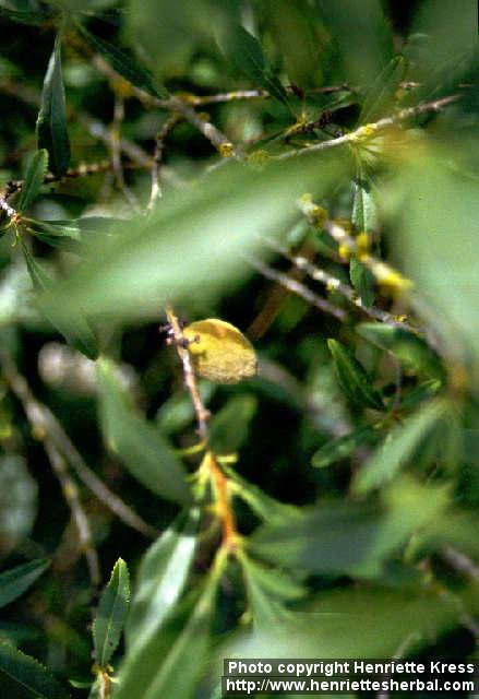
[[[291,157],[298,157],[299,155],[308,155],[310,153],[319,153],[320,151],[327,151],[330,149],[337,147],[338,145],[344,145],[345,143],[358,143],[366,140],[371,139],[372,135],[382,131],[383,129],[387,129],[390,127],[399,123],[400,121],[405,121],[411,117],[418,117],[421,114],[441,111],[444,107],[459,99],[459,95],[450,95],[448,97],[442,97],[441,99],[435,99],[434,102],[428,102],[422,105],[418,105],[417,107],[407,107],[406,109],[400,109],[397,114],[392,117],[384,117],[379,121],[373,123],[367,123],[364,126],[359,127],[355,131],[350,133],[346,133],[345,135],[340,135],[336,139],[330,139],[328,141],[321,141],[320,143],[314,143],[313,145],[307,145],[303,149],[299,149],[297,151],[288,151],[287,153],[282,153],[280,155],[272,155],[272,161],[286,161]]]

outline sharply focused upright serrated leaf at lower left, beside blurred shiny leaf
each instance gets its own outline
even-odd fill
[[[99,667],[106,667],[118,648],[129,604],[130,573],[124,560],[119,558],[101,594],[93,625],[93,642]]]

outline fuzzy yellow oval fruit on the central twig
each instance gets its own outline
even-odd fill
[[[217,383],[239,383],[256,374],[258,360],[251,342],[231,323],[208,318],[183,330],[197,376]]]

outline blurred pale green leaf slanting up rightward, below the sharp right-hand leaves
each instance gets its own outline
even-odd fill
[[[445,404],[431,401],[428,405],[411,415],[404,425],[396,425],[386,436],[369,461],[357,472],[352,489],[357,495],[366,495],[370,490],[387,483],[410,461],[419,445],[428,439],[428,435],[444,416]]]

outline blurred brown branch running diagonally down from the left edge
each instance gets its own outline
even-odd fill
[[[136,512],[134,512],[121,498],[104,484],[104,482],[86,465],[83,457],[76,450],[70,437],[51,413],[51,411],[40,403],[29,389],[25,378],[19,374],[12,360],[5,353],[0,352],[2,372],[12,392],[22,403],[23,408],[33,427],[37,427],[40,433],[48,435],[56,449],[64,455],[68,463],[75,471],[79,478],[92,493],[124,524],[136,530],[148,538],[156,538],[158,531],[147,524]]]

